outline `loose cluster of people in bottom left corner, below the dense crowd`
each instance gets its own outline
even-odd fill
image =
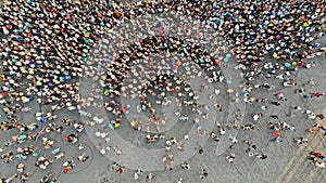
[[[36,119],[37,120],[37,119]],[[76,122],[73,119],[64,118],[61,126],[59,122],[48,122],[47,126],[43,123],[37,125],[36,122],[32,122],[25,125],[22,119],[15,120],[8,120],[1,122],[2,131],[10,133],[11,131],[14,133],[12,139],[4,143],[4,147],[1,147],[1,152],[16,149],[1,154],[1,159],[5,164],[10,164],[15,159],[18,159],[20,164],[17,165],[17,173],[12,178],[20,178],[21,182],[25,182],[29,179],[30,172],[25,172],[24,167],[26,166],[25,160],[27,158],[36,158],[35,167],[47,170],[49,166],[51,166],[54,161],[60,161],[65,156],[65,153],[62,149],[63,144],[59,144],[60,139],[49,138],[51,133],[63,133],[64,129],[67,129],[70,126],[74,127],[76,133],[80,133],[84,131],[84,126],[80,122]],[[70,122],[67,122],[70,121]],[[18,134],[15,133],[18,131]],[[63,134],[59,135],[59,138],[63,136]],[[75,133],[71,133],[68,135],[64,135],[63,139],[67,143],[76,143],[78,138]],[[38,144],[38,142],[42,142]],[[78,144],[78,149],[82,151],[79,146],[83,144]],[[47,154],[46,152],[50,151],[51,154]],[[86,156],[85,153],[77,157],[77,160],[85,162],[89,156]],[[63,164],[64,173],[67,173],[73,166],[65,166],[67,162]],[[48,182],[55,182],[57,178],[51,175],[51,179],[48,178]],[[53,177],[53,178],[52,178]],[[46,177],[45,177],[46,179]],[[12,179],[3,178],[3,182],[10,182]]]

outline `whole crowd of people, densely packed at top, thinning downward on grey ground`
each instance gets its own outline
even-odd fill
[[[37,147],[24,147],[24,144],[26,141],[42,140],[46,149],[51,148],[53,156],[62,157],[55,142],[43,138],[47,133],[64,132],[65,127],[59,125],[58,116],[54,115],[62,108],[88,117],[87,123],[64,119],[65,126],[75,128],[76,133],[84,131],[84,125],[93,126],[104,121],[104,118],[87,113],[86,108],[89,106],[104,107],[114,116],[110,121],[110,128],[116,129],[124,121],[124,114],[131,110],[130,105],[120,101],[121,96],[129,100],[139,97],[140,105],[137,106],[137,110],[150,114],[150,118],[148,121],[134,123],[134,128],[143,131],[145,134],[152,132],[152,127],[156,132],[161,132],[168,118],[160,116],[155,107],[170,105],[172,102],[168,95],[178,96],[176,101],[178,106],[189,108],[191,113],[204,119],[209,118],[208,110],[212,108],[197,102],[198,93],[208,89],[209,83],[231,82],[234,79],[224,76],[220,69],[228,66],[228,60],[223,60],[222,50],[225,52],[227,49],[230,50],[238,62],[237,68],[242,70],[241,76],[247,79],[239,86],[239,93],[243,94],[244,101],[249,104],[263,104],[263,112],[272,105],[283,105],[286,97],[279,92],[276,93],[275,101],[271,102],[251,96],[254,89],[269,91],[275,88],[267,82],[254,86],[253,80],[259,77],[276,78],[283,81],[284,87],[294,88],[297,79],[291,73],[314,67],[316,63],[309,58],[323,54],[326,56],[325,45],[315,42],[326,35],[323,0],[165,0],[130,3],[105,0],[11,0],[1,3],[0,104],[7,118],[1,121],[1,130],[17,132],[12,136],[13,142],[5,143],[5,147],[12,143],[22,146],[15,153],[5,152],[1,158],[10,162],[15,157],[26,159],[26,156],[35,154],[37,155],[35,166],[41,169],[47,169],[55,158],[43,157]],[[142,21],[150,19],[142,18],[145,15],[159,16],[163,13],[191,17],[195,23],[185,24],[188,27],[180,24],[166,28],[161,23],[158,23],[158,26],[156,22]],[[137,31],[114,29],[128,24],[128,21],[136,27],[147,27],[148,32],[153,31],[153,36],[142,35],[139,38]],[[220,39],[213,41],[225,42],[227,47],[221,47],[223,49],[217,51],[216,48],[205,50],[199,43],[186,41],[191,40],[191,37],[200,37],[200,34],[197,35],[195,31],[204,32],[197,29],[197,25],[212,27],[220,36]],[[171,36],[168,32],[175,34]],[[99,55],[102,58],[98,60]],[[159,56],[154,58],[154,55]],[[137,65],[139,67],[136,67]],[[201,70],[205,71],[205,76]],[[208,83],[199,91],[192,90],[188,81],[201,76],[205,77]],[[80,96],[79,77],[90,78],[95,82],[87,97]],[[128,79],[130,83],[125,84]],[[308,81],[308,84],[313,84],[313,81]],[[100,88],[103,88],[103,93]],[[218,93],[216,90],[215,94]],[[323,91],[306,93],[298,90],[298,93],[304,99],[324,95]],[[99,100],[104,100],[104,103],[100,104]],[[30,123],[18,119],[16,114],[29,112],[30,108],[25,104],[33,101],[51,106],[52,112],[36,113],[36,121]],[[218,103],[215,106],[216,113],[222,112],[224,107]],[[175,113],[180,121],[189,119],[186,113]],[[253,119],[259,120],[263,116],[262,113],[253,114]],[[306,112],[306,115],[310,119],[317,117],[312,112]],[[322,118],[321,115],[318,118]],[[45,122],[48,125],[43,125]],[[200,121],[196,122],[198,132],[203,133]],[[273,140],[277,142],[283,141],[279,130],[296,129],[279,121],[269,122],[267,127],[275,132]],[[42,129],[39,130],[40,128]],[[211,136],[218,142],[226,127],[216,126],[216,129],[218,133],[213,132]],[[248,125],[241,129],[253,130],[254,126]],[[110,142],[105,135],[97,136],[104,136],[106,142]],[[237,140],[235,136],[229,139],[233,148]],[[66,134],[64,140],[74,144],[78,142],[78,135]],[[297,142],[304,141],[299,139]],[[4,148],[1,147],[1,151]],[[250,156],[255,155],[259,159],[267,158],[267,155],[252,153],[253,151],[249,149],[247,153]],[[86,157],[80,156],[79,159],[87,160]],[[226,158],[233,162],[236,155],[230,154]],[[165,159],[166,168],[173,169],[173,156],[167,154]],[[18,167],[17,174],[2,182],[10,182],[15,178],[20,178],[22,182],[28,180],[28,173],[22,171],[23,167]],[[66,161],[63,167],[63,171],[68,172],[75,167],[75,162]],[[205,169],[200,171],[200,177],[203,179],[208,177]]]

